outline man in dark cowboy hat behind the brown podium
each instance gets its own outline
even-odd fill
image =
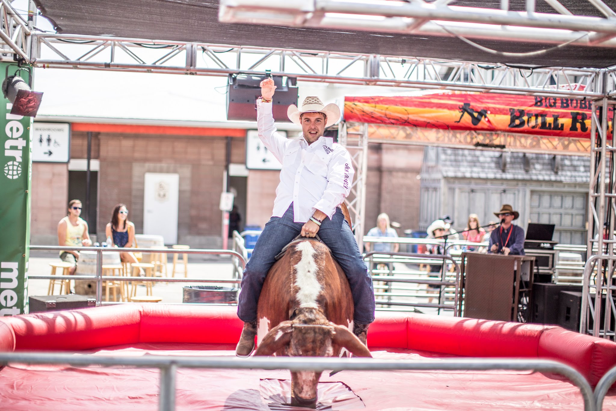
[[[500,227],[497,227],[490,234],[490,243],[488,243],[488,253],[518,255],[523,256],[524,253],[524,229],[511,224],[512,221],[520,216],[520,213],[513,211],[509,204],[503,204],[501,210],[494,213],[500,219]]]

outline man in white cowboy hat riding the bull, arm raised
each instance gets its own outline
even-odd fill
[[[299,139],[280,136],[272,116],[274,80],[261,82],[257,99],[259,139],[282,163],[272,218],[259,235],[246,264],[237,314],[244,322],[235,354],[247,357],[254,350],[259,295],[275,258],[294,238],[315,237],[327,245],[351,287],[354,314],[352,332],[366,345],[368,325],[375,319],[375,294],[351,227],[340,205],[349,195],[354,169],[349,152],[331,137],[323,136],[340,118],[335,104],[323,105],[318,97],[306,97],[301,109],[294,105],[287,115],[301,124]],[[285,293],[285,290],[280,290]]]

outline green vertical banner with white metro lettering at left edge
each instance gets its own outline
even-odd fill
[[[2,80],[7,65],[0,63]],[[16,68],[9,65],[9,76]],[[0,317],[28,305],[32,118],[10,114],[11,107],[0,93]]]

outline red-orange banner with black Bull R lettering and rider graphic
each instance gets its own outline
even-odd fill
[[[588,99],[458,91],[344,99],[346,121],[550,137],[590,138],[590,112]]]

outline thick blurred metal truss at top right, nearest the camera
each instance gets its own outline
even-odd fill
[[[535,0],[525,0],[525,12],[449,6],[448,0],[426,2],[347,0],[221,0],[219,20],[277,26],[414,33],[548,44],[616,47],[616,12],[602,0],[589,2],[605,17],[573,15],[557,0],[546,0],[557,13],[535,12]]]

